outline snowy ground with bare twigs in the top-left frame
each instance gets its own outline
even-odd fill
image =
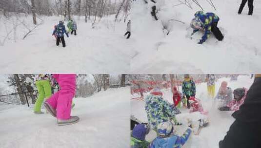
[[[93,20],[85,23],[83,17],[80,20],[75,17],[78,35],[69,35],[69,38],[65,36],[65,48],[61,44],[57,47],[56,39],[52,37],[59,17],[43,17],[44,23],[24,40],[21,38],[28,31],[20,24],[16,30],[16,43],[12,32],[10,39],[0,46],[0,73],[128,73],[133,39],[123,37],[126,23],[115,23],[114,17],[115,15],[102,18],[100,22],[96,20],[94,29]],[[0,41],[6,35],[4,22],[7,31],[12,30],[11,20],[5,22],[0,19]],[[33,28],[31,16],[21,17],[20,20],[24,20],[27,27]]]

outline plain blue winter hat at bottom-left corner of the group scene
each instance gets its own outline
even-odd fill
[[[145,140],[147,132],[147,126],[144,124],[138,124],[132,130],[132,136],[138,140]]]

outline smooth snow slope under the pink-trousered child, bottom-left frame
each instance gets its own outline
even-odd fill
[[[128,148],[129,99],[130,87],[75,98],[72,115],[78,115],[80,122],[63,127],[50,114],[0,105],[0,148]]]

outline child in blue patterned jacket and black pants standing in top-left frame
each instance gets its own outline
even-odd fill
[[[62,47],[65,47],[65,41],[64,41],[64,34],[66,34],[67,37],[69,37],[65,26],[62,23],[59,23],[58,25],[56,25],[55,30],[53,32],[53,36],[55,35],[56,38],[56,45],[59,46],[60,41],[62,43]]]

